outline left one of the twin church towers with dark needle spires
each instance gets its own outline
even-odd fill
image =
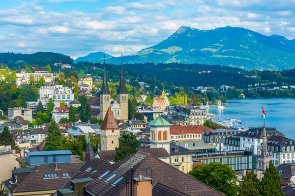
[[[107,81],[106,71],[106,53],[104,54],[104,73],[103,82],[100,91],[100,118],[103,119],[106,116],[108,108],[111,107],[111,93]]]

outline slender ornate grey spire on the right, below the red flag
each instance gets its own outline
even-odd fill
[[[257,177],[258,179],[263,178],[263,174],[266,171],[266,168],[269,167],[269,161],[272,159],[272,155],[268,154],[267,151],[267,139],[266,139],[266,123],[263,126],[263,137],[262,137],[262,144],[261,144],[261,154],[257,155]]]

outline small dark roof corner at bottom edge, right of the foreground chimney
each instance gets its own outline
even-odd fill
[[[152,196],[189,196],[189,195],[179,192],[159,182],[156,182],[155,185],[152,187]]]

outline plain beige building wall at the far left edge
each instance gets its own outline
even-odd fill
[[[11,178],[11,171],[14,167],[18,168],[18,162],[15,158],[19,157],[15,154],[15,150],[11,146],[0,146],[0,182]]]

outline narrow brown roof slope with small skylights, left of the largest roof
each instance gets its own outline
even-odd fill
[[[68,182],[63,186],[63,188],[69,188],[70,187],[70,180],[75,179],[81,179],[81,178],[87,178],[91,177],[93,172],[96,170],[96,172],[103,170],[107,167],[109,167],[111,164],[105,160],[94,158],[89,161],[87,161],[74,175],[71,177],[71,179],[68,179]],[[88,168],[91,168],[91,170],[88,172]],[[95,173],[95,172],[94,172]]]

